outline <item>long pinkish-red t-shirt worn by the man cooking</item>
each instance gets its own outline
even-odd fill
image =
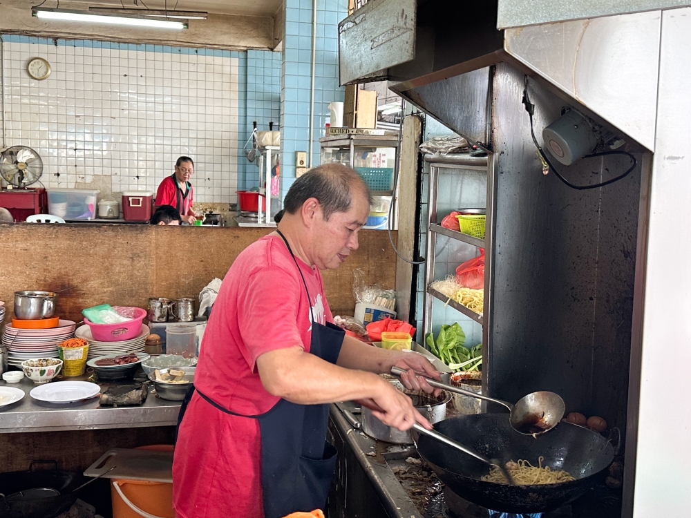
[[[284,347],[310,351],[312,323],[333,322],[319,269],[297,260],[278,236],[245,249],[218,292],[200,347],[194,384],[231,412],[263,414],[278,398],[264,389],[256,358]],[[256,419],[233,416],[194,394],[173,462],[178,518],[261,518],[261,436]]]

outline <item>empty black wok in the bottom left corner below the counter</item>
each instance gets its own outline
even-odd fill
[[[35,469],[37,464],[53,464],[52,470]],[[0,518],[55,518],[77,501],[73,492],[87,477],[77,472],[59,471],[55,461],[33,461],[28,471],[0,473],[0,493],[9,497],[32,488],[51,488],[60,495],[47,498],[0,497]]]

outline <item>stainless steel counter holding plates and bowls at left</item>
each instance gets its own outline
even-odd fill
[[[180,401],[166,401],[151,394],[153,385],[143,405],[117,408],[100,407],[98,398],[65,404],[37,401],[29,392],[38,385],[27,378],[12,384],[0,381],[0,387],[4,386],[17,387],[26,395],[17,403],[0,407],[0,433],[171,426],[177,423],[180,411]]]

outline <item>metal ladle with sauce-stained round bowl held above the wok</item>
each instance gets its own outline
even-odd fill
[[[391,374],[394,376],[401,376],[406,372],[400,367],[392,367]],[[471,398],[484,399],[484,401],[491,401],[492,403],[498,403],[504,405],[511,412],[509,416],[509,423],[511,423],[511,428],[516,432],[524,435],[540,435],[545,432],[549,432],[552,428],[559,424],[559,421],[564,417],[565,405],[564,400],[554,394],[554,392],[540,391],[532,392],[527,396],[522,397],[518,403],[511,405],[508,401],[502,401],[501,399],[494,399],[489,396],[483,396],[482,394],[476,394],[475,392],[470,392],[469,390],[463,390],[459,387],[454,387],[453,385],[446,385],[446,383],[441,383],[439,381],[425,378],[427,383],[435,388],[440,388],[442,390],[448,390],[448,392],[455,392],[456,394],[462,394],[463,396],[468,396]]]

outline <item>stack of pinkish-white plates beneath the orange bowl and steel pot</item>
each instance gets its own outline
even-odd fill
[[[2,336],[2,344],[9,351],[7,363],[19,367],[24,360],[57,358],[57,344],[74,334],[72,320],[60,320],[58,326],[51,329],[15,329],[8,323]]]

